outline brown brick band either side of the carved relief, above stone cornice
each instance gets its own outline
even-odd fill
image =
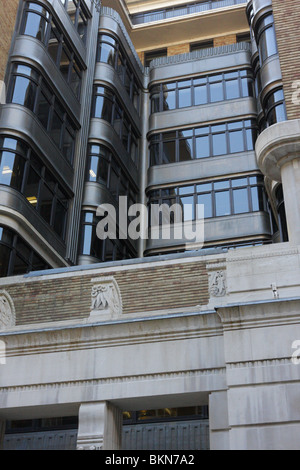
[[[87,318],[91,279],[114,276],[121,291],[123,313],[151,312],[206,305],[208,275],[203,262],[128,269],[99,275],[89,272],[12,284],[4,289],[16,309],[17,325]]]

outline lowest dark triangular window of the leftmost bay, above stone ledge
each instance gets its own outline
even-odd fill
[[[0,277],[42,271],[50,266],[15,231],[0,225]]]

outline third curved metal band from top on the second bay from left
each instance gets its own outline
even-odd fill
[[[139,186],[139,172],[133,164],[130,155],[124,149],[122,142],[113,127],[102,119],[91,119],[89,143],[102,143],[110,148],[119,158],[123,168],[131,177],[133,183]]]

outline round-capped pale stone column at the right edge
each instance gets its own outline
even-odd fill
[[[282,183],[289,241],[300,245],[300,120],[280,122],[262,132],[256,155],[262,173]]]

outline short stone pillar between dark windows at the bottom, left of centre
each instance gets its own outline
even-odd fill
[[[77,450],[120,450],[121,447],[122,411],[108,402],[81,405]]]

